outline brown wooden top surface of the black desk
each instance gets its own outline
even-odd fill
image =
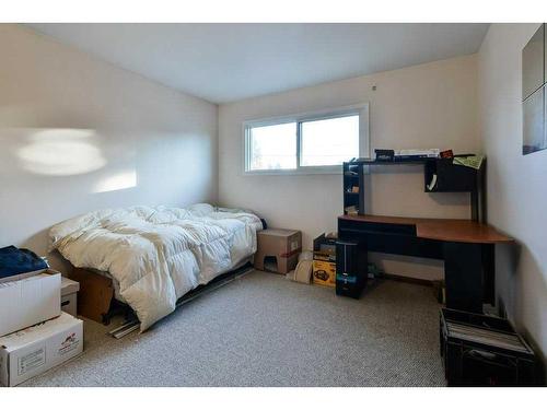
[[[338,219],[356,222],[391,223],[416,225],[416,236],[443,242],[465,242],[472,244],[497,244],[513,242],[496,229],[469,220],[445,220],[427,218],[404,218],[383,215],[341,215]]]

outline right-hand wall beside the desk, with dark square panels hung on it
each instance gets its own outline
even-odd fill
[[[517,241],[497,253],[508,315],[547,352],[547,151],[522,155],[522,49],[538,24],[492,24],[479,52],[488,221]]]

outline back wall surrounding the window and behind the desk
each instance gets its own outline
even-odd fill
[[[372,91],[376,85],[377,90]],[[370,102],[372,148],[441,148],[476,152],[477,57],[381,72],[219,107],[219,200],[247,207],[271,226],[302,230],[304,246],[322,232],[336,230],[341,213],[341,174],[243,174],[245,120],[336,108]],[[421,167],[375,168],[370,212],[387,215],[468,218],[466,194],[424,194]],[[432,279],[441,261],[385,256],[386,271]]]

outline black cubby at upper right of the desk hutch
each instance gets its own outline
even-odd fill
[[[454,165],[452,160],[429,160],[423,173],[426,192],[476,191],[479,172],[480,169],[468,166]],[[437,181],[432,184],[434,178]]]

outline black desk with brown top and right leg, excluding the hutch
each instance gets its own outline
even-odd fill
[[[342,215],[338,236],[362,251],[444,260],[446,307],[482,313],[494,303],[494,245],[513,239],[468,220]]]

